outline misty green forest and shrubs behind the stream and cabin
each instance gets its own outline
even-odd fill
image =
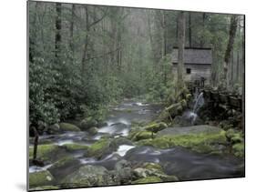
[[[124,97],[166,101],[179,11],[95,5],[29,4],[30,121],[91,116]],[[230,89],[242,85],[243,17],[236,16]],[[211,47],[211,86],[222,86],[232,15],[185,13],[185,46]],[[103,112],[102,112],[103,113]]]

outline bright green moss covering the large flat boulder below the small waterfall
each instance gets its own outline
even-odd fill
[[[159,136],[154,139],[141,140],[138,145],[159,148],[187,147],[200,153],[210,153],[216,149],[214,144],[225,144],[225,131],[220,133],[201,133],[182,136]]]

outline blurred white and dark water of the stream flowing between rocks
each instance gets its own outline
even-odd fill
[[[199,95],[199,98],[201,99],[202,95]],[[196,105],[200,105],[199,102]],[[62,135],[40,136],[39,142],[47,141],[58,146],[70,143],[90,146],[105,135],[110,134],[113,137],[128,136],[133,121],[151,121],[159,115],[161,109],[162,106],[124,100],[122,104],[112,108],[107,119],[107,125],[100,127],[95,136],[91,136],[87,132],[67,132]],[[195,112],[196,109],[193,113]],[[127,159],[132,164],[155,162],[161,164],[167,174],[175,175],[180,180],[239,177],[243,171],[241,166],[243,162],[236,157],[199,154],[182,147],[158,149],[120,145],[117,151],[107,154],[100,160],[94,157],[85,157],[82,151],[70,152],[70,154],[79,160],[81,166],[86,164],[100,165],[109,170],[114,169],[115,164],[120,159]],[[45,167],[32,166],[29,167],[29,172],[46,170],[51,166],[51,164]]]

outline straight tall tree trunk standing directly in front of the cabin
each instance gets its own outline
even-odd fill
[[[183,67],[184,67],[184,46],[185,46],[185,14],[180,12],[178,15],[178,88],[183,86]]]

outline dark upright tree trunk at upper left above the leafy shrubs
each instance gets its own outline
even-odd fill
[[[56,37],[55,37],[55,47],[56,47],[56,62],[59,62],[60,57],[60,44],[61,44],[61,4],[56,3]]]

